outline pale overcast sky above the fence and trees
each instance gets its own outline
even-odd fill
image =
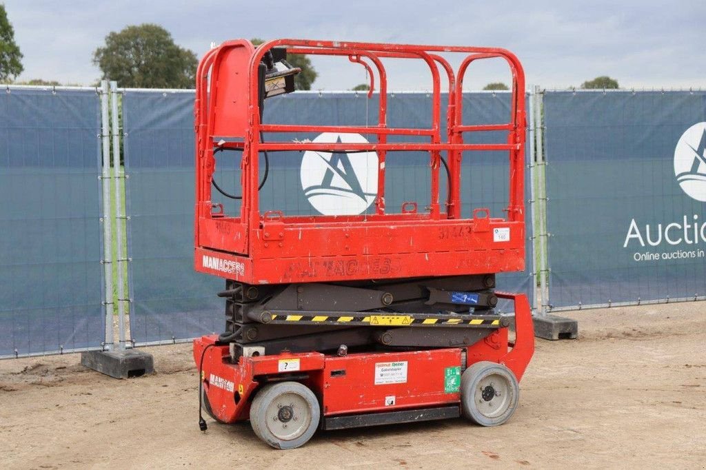
[[[624,88],[706,88],[706,1],[46,1],[5,0],[24,54],[21,80],[90,85],[92,52],[111,31],[157,23],[200,57],[239,37],[506,47],[527,83],[579,86],[609,75]],[[313,58],[315,89],[365,81],[353,64]],[[359,66],[358,66],[359,67]],[[390,88],[427,89],[429,73],[390,64]],[[500,64],[479,66],[465,88],[508,81]]]

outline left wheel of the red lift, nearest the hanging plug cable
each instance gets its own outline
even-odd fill
[[[306,444],[320,418],[316,395],[299,382],[265,385],[250,406],[255,435],[275,449],[296,449]]]

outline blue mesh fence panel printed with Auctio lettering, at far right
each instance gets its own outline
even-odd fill
[[[544,119],[552,308],[704,296],[706,92],[547,92]]]

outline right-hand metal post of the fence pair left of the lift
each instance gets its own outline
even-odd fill
[[[123,191],[120,188],[120,134],[122,129],[120,128],[120,122],[118,119],[118,83],[110,82],[110,105],[112,113],[112,123],[111,123],[111,136],[113,140],[113,181],[114,192],[115,192],[115,240],[117,243],[116,250],[116,265],[117,265],[117,294],[118,294],[118,347],[121,351],[125,349],[126,337],[125,337],[125,307],[126,302],[129,299],[125,295],[124,286],[124,272],[125,272],[125,262],[127,261],[127,254],[125,252],[124,246],[124,236],[123,229],[124,224],[121,221],[126,220],[126,215],[124,214],[124,208],[122,205],[121,195]],[[123,175],[126,177],[126,175]]]

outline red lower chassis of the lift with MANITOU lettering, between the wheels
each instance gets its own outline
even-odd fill
[[[515,344],[508,344],[508,329],[500,328],[486,339],[466,349],[466,364],[479,361],[501,363],[510,368],[517,380],[522,378],[534,353],[534,331],[530,304],[524,294],[498,293],[498,297],[515,301]],[[215,335],[194,340],[193,356],[197,364],[208,344],[214,344]],[[319,398],[324,416],[357,414],[394,409],[428,408],[441,404],[459,404],[459,393],[444,389],[444,370],[463,366],[462,348],[430,349],[408,352],[375,352],[347,356],[321,353],[279,354],[240,358],[229,363],[227,346],[210,347],[203,360],[203,387],[213,413],[220,421],[233,423],[249,418],[251,394],[268,380],[292,377]],[[299,359],[299,369],[288,373],[280,371],[280,361]],[[377,384],[376,364],[406,362],[405,382]],[[332,375],[345,370],[345,375]],[[211,375],[232,382],[233,390],[214,385]],[[303,378],[302,378],[303,376]],[[241,388],[242,387],[242,388]],[[386,405],[385,399],[395,397],[395,404]]]

